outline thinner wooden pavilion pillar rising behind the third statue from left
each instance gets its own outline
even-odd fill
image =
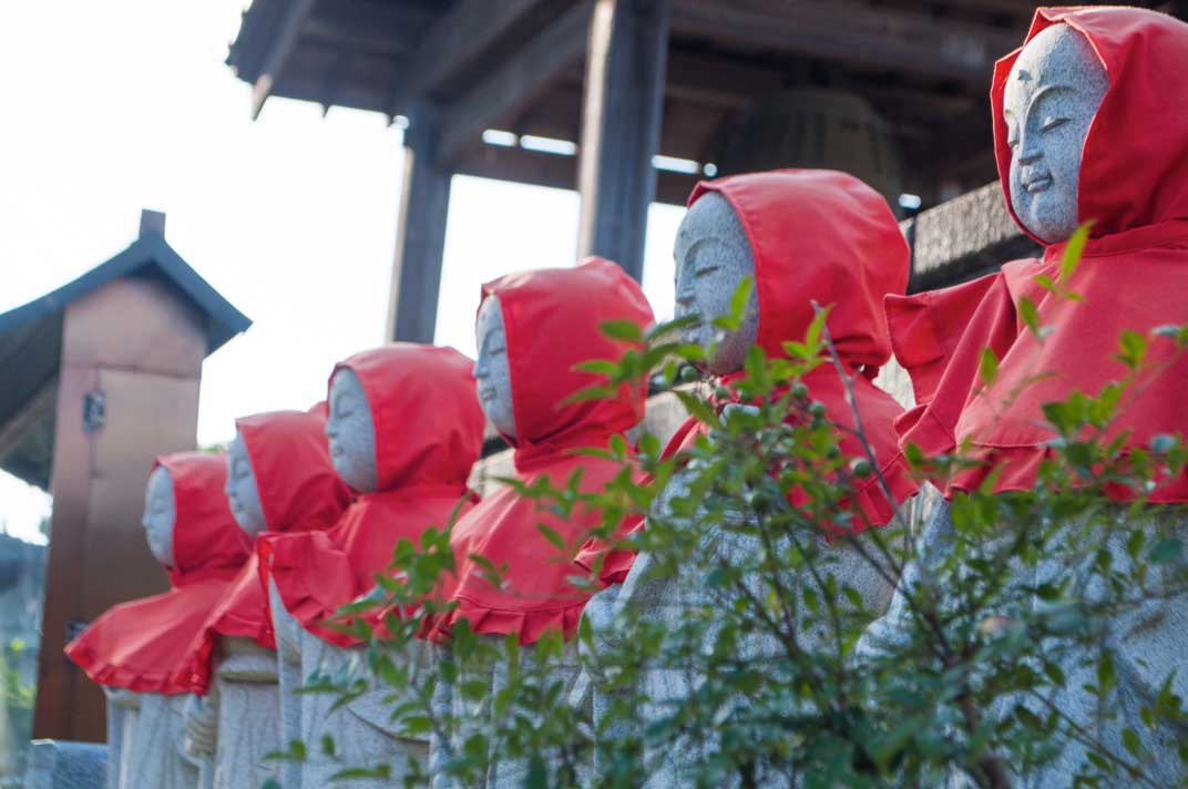
[[[387,308],[387,337],[432,342],[453,172],[437,162],[441,116],[421,105],[404,133],[404,187]]]

